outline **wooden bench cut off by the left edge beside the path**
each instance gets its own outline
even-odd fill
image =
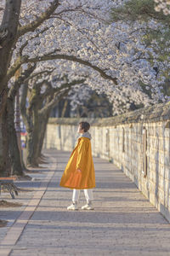
[[[0,195],[1,195],[1,189],[7,189],[8,193],[11,195],[11,197],[14,199],[14,194],[18,195],[18,189],[14,185],[14,180],[16,180],[16,177],[0,177]]]

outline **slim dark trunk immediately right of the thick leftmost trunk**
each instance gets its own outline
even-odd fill
[[[23,168],[21,164],[20,149],[16,131],[14,129],[14,101],[8,99],[8,136],[9,136],[9,154],[11,160],[12,175],[23,176]]]

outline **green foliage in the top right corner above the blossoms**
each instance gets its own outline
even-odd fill
[[[145,29],[143,37],[144,43],[150,45],[153,40],[159,45],[159,61],[165,61],[167,59],[167,42],[170,38],[170,15],[164,15],[163,12],[156,12],[154,0],[129,0],[124,3],[122,7],[111,10],[112,21],[124,20],[124,21],[140,21],[147,22],[150,19],[154,19],[157,22],[161,22],[163,29],[153,30],[151,28]],[[152,45],[153,47],[153,45]],[[150,61],[151,61],[150,56]]]

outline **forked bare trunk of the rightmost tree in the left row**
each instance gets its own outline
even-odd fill
[[[21,114],[26,125],[26,165],[36,167],[41,157],[43,137],[48,122],[48,116],[51,111],[39,113],[42,108],[42,96],[40,94],[41,86],[35,86],[31,90],[29,108],[26,108],[27,87],[23,88],[21,96]]]

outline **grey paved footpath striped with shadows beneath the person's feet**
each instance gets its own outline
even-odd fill
[[[1,236],[0,255],[170,255],[170,224],[122,171],[94,158],[95,210],[69,212],[72,191],[59,180],[70,153],[49,153],[48,174]]]

